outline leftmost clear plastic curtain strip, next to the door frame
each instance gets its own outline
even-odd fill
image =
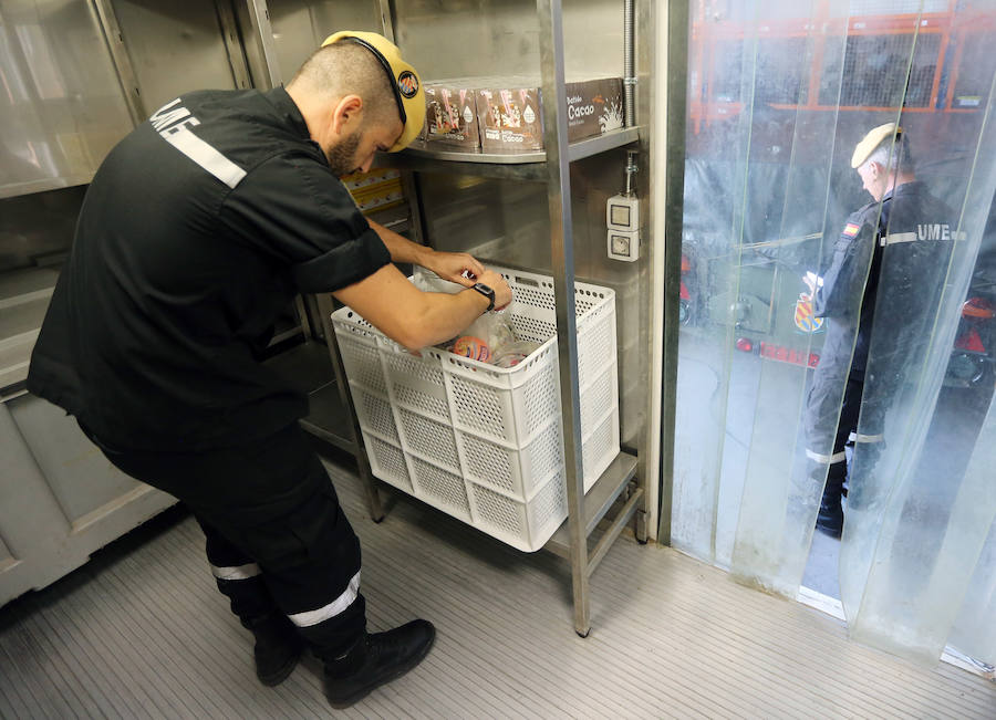
[[[745,9],[756,10],[757,3]],[[694,18],[692,22],[694,25]],[[689,100],[697,94],[704,67],[716,62],[722,66],[723,92],[730,102],[749,107],[757,38],[745,38],[714,54],[694,36],[693,31],[691,52],[698,62],[689,65]],[[683,282],[694,298],[687,302],[688,315],[678,341],[672,543],[726,566],[743,487],[738,458],[749,441],[746,432],[730,434],[726,419],[730,411],[739,411],[736,407],[730,410],[729,404],[740,403],[730,392],[732,348],[740,238],[749,205],[745,190],[750,113],[737,113],[718,129],[697,143],[691,124],[688,133],[683,251],[688,251],[691,268]]]

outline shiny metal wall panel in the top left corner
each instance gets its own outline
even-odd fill
[[[132,127],[85,0],[0,0],[0,197],[89,182]]]

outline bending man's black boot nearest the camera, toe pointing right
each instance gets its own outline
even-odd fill
[[[347,708],[371,690],[418,665],[436,639],[428,620],[412,620],[386,633],[364,634],[342,657],[325,659],[325,697],[333,708]]]

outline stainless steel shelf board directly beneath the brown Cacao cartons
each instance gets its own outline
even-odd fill
[[[624,127],[598,137],[571,143],[568,158],[571,163],[592,155],[630,145],[640,139],[640,127]],[[378,155],[375,165],[418,173],[460,173],[499,179],[546,181],[547,153],[532,150],[520,153],[467,153],[446,148],[438,143],[414,142],[405,150],[394,155]]]

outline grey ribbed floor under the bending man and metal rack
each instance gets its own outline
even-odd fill
[[[381,524],[349,461],[330,472],[364,549],[370,625],[432,619],[404,678],[342,714],[370,718],[996,718],[996,686],[914,667],[842,624],[670,549],[616,543],[572,628],[570,572],[413,500]],[[0,718],[313,718],[313,661],[255,679],[248,634],[214,588],[193,520],[173,510],[59,583],[0,609]]]

